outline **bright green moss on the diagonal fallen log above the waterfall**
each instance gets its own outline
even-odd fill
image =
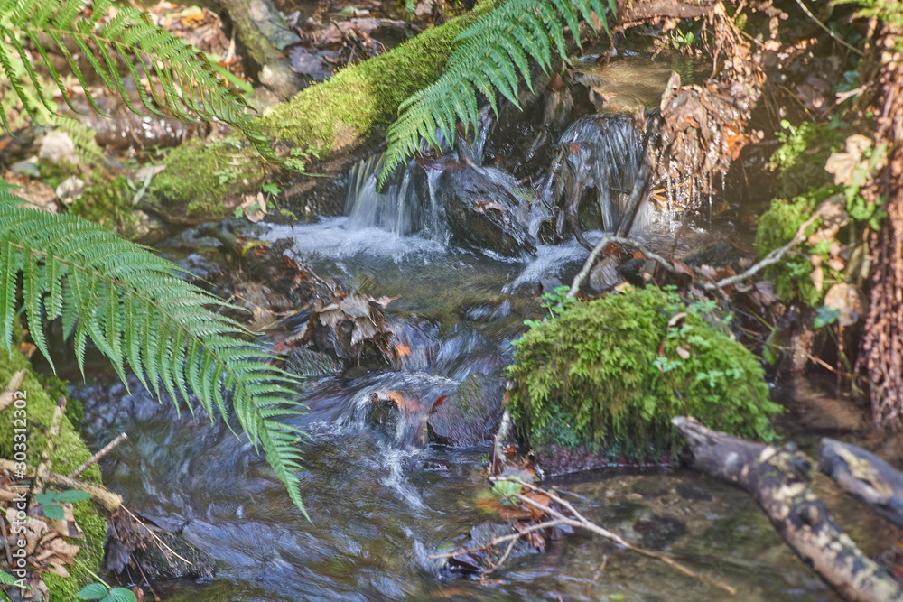
[[[257,125],[277,143],[296,149],[296,155],[319,157],[307,166],[311,171],[341,171],[348,166],[351,151],[395,119],[405,98],[440,75],[455,37],[492,4],[484,0],[473,13],[303,89],[292,100],[268,109]],[[158,211],[164,218],[200,221],[224,215],[237,205],[238,193],[259,190],[266,177],[275,177],[275,167],[239,136],[207,144],[193,140],[169,154],[166,170],[154,179],[151,192],[162,203]]]

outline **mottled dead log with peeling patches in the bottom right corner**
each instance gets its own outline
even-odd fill
[[[809,483],[814,463],[793,443],[782,449],[705,428],[693,418],[672,421],[693,453],[693,467],[740,486],[787,544],[844,599],[903,599],[903,588],[842,532]]]

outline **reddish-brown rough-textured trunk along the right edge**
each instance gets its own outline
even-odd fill
[[[878,44],[886,50],[880,52],[884,102],[875,141],[888,144],[889,157],[863,196],[886,199],[888,217],[870,236],[869,318],[857,363],[870,379],[874,421],[892,429],[903,427],[903,56],[895,50],[898,40],[888,32]]]

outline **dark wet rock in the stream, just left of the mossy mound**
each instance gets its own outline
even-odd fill
[[[501,421],[504,393],[498,378],[469,375],[430,415],[430,439],[461,447],[491,440]]]

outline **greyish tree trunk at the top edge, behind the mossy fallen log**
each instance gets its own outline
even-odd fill
[[[284,51],[301,42],[269,0],[219,0],[247,56],[260,66],[257,79],[284,100],[301,88]]]

